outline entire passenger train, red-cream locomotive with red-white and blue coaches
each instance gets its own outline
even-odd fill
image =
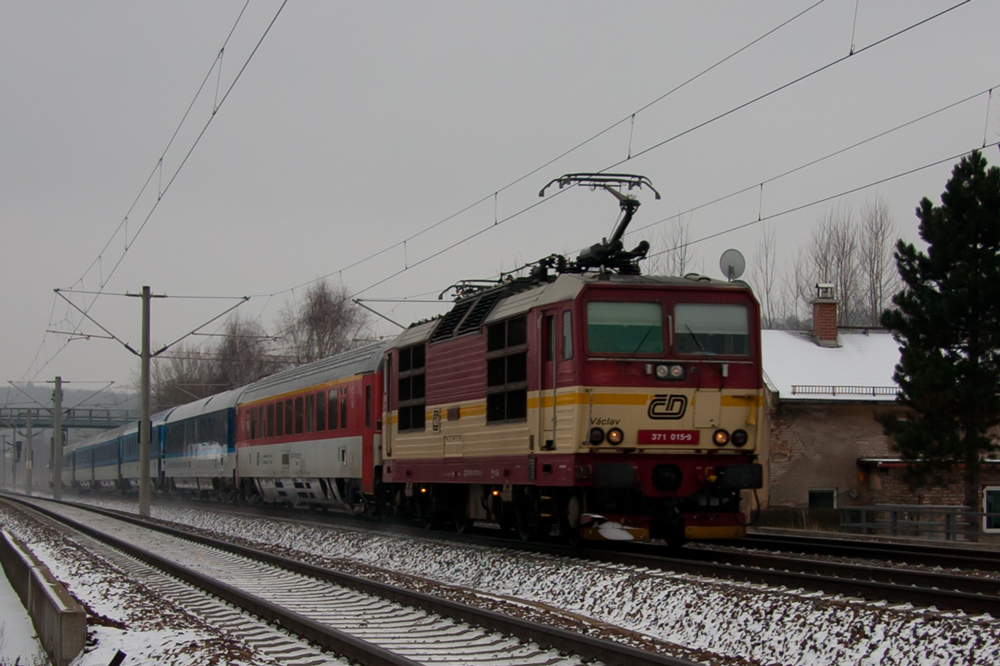
[[[525,277],[460,283],[447,314],[393,340],[157,414],[156,487],[525,539],[743,536],[741,499],[763,481],[750,288],[640,274],[648,244],[621,238],[644,177],[552,184],[614,194],[612,237]],[[64,485],[136,487],[136,431],[70,447]]]

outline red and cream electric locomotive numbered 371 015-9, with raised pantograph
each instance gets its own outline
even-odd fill
[[[447,315],[392,343],[386,501],[428,524],[491,522],[524,538],[742,536],[741,496],[762,484],[753,294],[639,275],[648,244],[620,241],[639,204],[619,190],[649,187],[644,178],[554,182],[612,192],[621,224],[575,262],[459,285]]]

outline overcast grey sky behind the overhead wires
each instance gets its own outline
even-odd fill
[[[1000,99],[985,92],[1000,83],[1000,3],[878,44],[955,4],[267,1],[240,18],[243,0],[0,0],[0,378],[137,376],[116,342],[46,332],[101,333],[57,288],[103,289],[69,297],[138,348],[140,301],[116,294],[143,285],[170,297],[152,305],[165,344],[235,303],[183,296],[251,296],[239,312],[271,328],[323,276],[362,298],[433,299],[575,253],[609,233],[618,206],[581,189],[539,199],[567,172],[652,180],[663,199],[640,193],[633,228],[662,222],[630,246],[662,249],[696,207],[693,239],[764,218],[693,246],[713,277],[727,248],[751,263],[765,224],[789,261],[831,211],[876,196],[915,241],[914,208],[938,201],[953,162],[836,195],[1000,140]],[[444,310],[368,305],[403,324]]]

